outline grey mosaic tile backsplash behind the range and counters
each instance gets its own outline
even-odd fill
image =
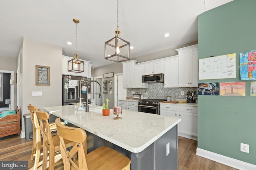
[[[181,91],[184,91],[184,95],[180,95]],[[187,91],[197,92],[197,87],[164,88],[164,83],[149,83],[148,88],[127,89],[127,97],[132,97],[132,92],[140,92],[143,97],[148,97],[150,99],[166,99],[166,96],[171,96],[172,99],[185,99]]]

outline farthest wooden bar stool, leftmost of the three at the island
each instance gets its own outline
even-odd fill
[[[28,104],[28,110],[30,111],[30,117],[33,125],[33,144],[32,144],[32,153],[30,160],[33,160],[35,158],[34,162],[34,169],[36,170],[38,168],[39,164],[39,157],[40,157],[40,150],[41,150],[41,132],[40,128],[36,129],[34,124],[34,113],[36,110],[41,111],[40,109],[36,109],[36,106],[32,106],[31,104]],[[62,125],[66,125],[64,122],[61,122]],[[55,122],[49,123],[50,131],[54,132],[57,131]]]

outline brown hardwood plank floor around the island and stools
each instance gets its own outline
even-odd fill
[[[237,170],[230,166],[214,162],[196,155],[197,141],[178,137],[178,170]],[[31,170],[34,161],[30,161],[32,139],[26,140],[18,135],[0,138],[0,160],[28,161],[28,170]],[[57,159],[61,156],[58,154]],[[40,156],[39,164],[42,164]],[[60,167],[59,169],[63,169]]]

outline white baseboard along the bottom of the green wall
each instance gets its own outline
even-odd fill
[[[197,148],[196,155],[202,156],[210,160],[214,160],[215,162],[219,162],[221,164],[231,166],[239,170],[256,170],[256,165],[254,164],[249,164],[247,162],[243,162],[234,158],[223,156],[221,154],[210,152],[208,150]]]

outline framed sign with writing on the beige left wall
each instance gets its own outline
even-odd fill
[[[36,65],[36,86],[50,86],[50,67]]]

